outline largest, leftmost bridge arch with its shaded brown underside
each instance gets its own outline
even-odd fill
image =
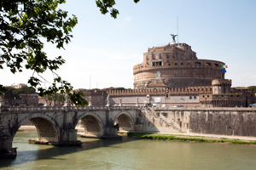
[[[46,114],[29,115],[18,122],[18,128],[28,120],[37,128],[38,140],[40,142],[50,142],[54,144],[60,141],[60,127],[53,117]]]

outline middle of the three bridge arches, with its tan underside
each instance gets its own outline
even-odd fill
[[[101,138],[104,134],[103,122],[100,116],[95,113],[84,113],[79,116],[78,121],[75,122],[75,126],[81,121],[84,126],[85,137]]]

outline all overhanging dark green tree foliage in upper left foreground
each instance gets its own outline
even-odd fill
[[[137,3],[139,0],[134,0]],[[2,0],[0,3],[0,69],[9,67],[15,74],[24,67],[32,70],[28,83],[36,88],[40,96],[50,96],[57,92],[67,93],[75,105],[86,105],[83,93],[73,91],[71,84],[55,72],[65,60],[61,56],[49,59],[44,52],[44,40],[56,48],[64,48],[71,41],[71,32],[77,25],[75,15],[67,17],[67,11],[58,9],[65,0]],[[119,11],[113,8],[115,0],[96,0],[102,14],[110,12],[113,18]],[[54,77],[49,88],[41,84],[47,82],[42,74],[52,71]],[[6,89],[0,87],[0,95]],[[73,91],[73,92],[72,92]]]

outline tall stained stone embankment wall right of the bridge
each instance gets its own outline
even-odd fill
[[[256,108],[145,108],[143,132],[256,137]]]

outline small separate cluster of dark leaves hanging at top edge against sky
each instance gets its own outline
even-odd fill
[[[140,0],[133,0],[134,3],[139,2]],[[115,5],[115,0],[96,0],[96,5],[98,8],[100,8],[100,11],[102,14],[107,14],[110,12],[110,15],[116,19],[117,15],[119,14],[119,10],[116,8],[113,8],[113,5]]]

